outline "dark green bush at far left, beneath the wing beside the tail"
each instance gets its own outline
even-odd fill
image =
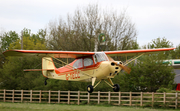
[[[41,62],[37,57],[9,57],[0,69],[4,89],[32,89],[38,84],[33,84],[34,79],[40,78],[41,72],[23,72],[23,69],[33,69]],[[38,67],[40,68],[40,66]]]

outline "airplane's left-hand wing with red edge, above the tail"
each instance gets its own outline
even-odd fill
[[[49,50],[8,50],[3,53],[5,56],[40,56],[54,58],[79,58],[93,55],[94,52],[80,51],[49,51]]]

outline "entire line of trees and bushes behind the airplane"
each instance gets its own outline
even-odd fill
[[[45,86],[45,78],[41,72],[23,71],[41,69],[41,58],[4,57],[2,53],[6,50],[21,49],[22,44],[24,50],[94,51],[100,33],[105,34],[106,47],[98,43],[99,51],[173,47],[165,37],[140,47],[135,40],[135,24],[125,10],[117,14],[113,10],[100,10],[97,4],[88,5],[77,9],[74,15],[68,15],[66,20],[60,18],[50,22],[47,29],[40,29],[37,34],[31,33],[30,29],[23,29],[22,34],[15,31],[4,32],[0,36],[0,89],[86,90],[91,83],[51,79]],[[120,58],[124,60],[124,57]],[[161,87],[172,89],[175,74],[172,67],[162,64],[162,60],[178,58],[180,45],[174,51],[141,57],[139,59],[142,62],[129,65],[131,74],[121,72],[113,82],[120,84],[121,91],[156,91]],[[114,59],[119,60],[119,57]],[[103,82],[95,90],[112,91]]]

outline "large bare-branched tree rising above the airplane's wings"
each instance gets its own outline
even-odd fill
[[[97,37],[105,33],[108,50],[124,50],[136,37],[135,24],[126,11],[120,14],[102,11],[97,4],[78,8],[66,21],[59,19],[58,24],[50,23],[48,45],[51,49],[93,51]],[[98,50],[101,50],[99,44]]]

